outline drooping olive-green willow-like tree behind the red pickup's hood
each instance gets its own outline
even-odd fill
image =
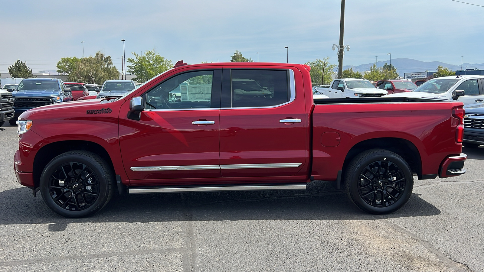
[[[119,79],[119,77],[120,72],[113,65],[111,57],[99,51],[94,57],[89,56],[76,62],[72,78],[69,76],[69,80],[101,85],[106,80]]]

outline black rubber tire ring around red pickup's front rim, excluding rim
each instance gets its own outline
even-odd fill
[[[99,196],[96,199],[96,201],[91,205],[91,207],[85,210],[82,210],[82,211],[65,210],[62,207],[60,207],[57,203],[55,203],[54,199],[52,199],[52,196],[50,196],[50,191],[49,191],[50,176],[59,166],[66,163],[85,164],[86,166],[90,167],[92,171],[94,171],[94,173],[96,174],[99,180],[99,185],[100,185]],[[99,163],[97,163],[93,159],[81,154],[72,154],[72,153],[61,154],[55,157],[54,159],[52,159],[52,161],[50,161],[47,164],[47,166],[45,166],[44,171],[42,171],[42,175],[40,177],[40,192],[47,206],[50,209],[52,209],[54,212],[57,212],[58,214],[65,217],[83,217],[83,216],[91,215],[103,207],[108,196],[107,182],[108,181],[106,179],[106,173],[104,169],[102,168],[102,166],[99,165]]]

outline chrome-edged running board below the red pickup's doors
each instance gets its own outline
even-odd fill
[[[220,191],[254,191],[254,190],[305,190],[306,183],[199,186],[199,187],[132,187],[129,194],[155,194],[175,192],[220,192]]]

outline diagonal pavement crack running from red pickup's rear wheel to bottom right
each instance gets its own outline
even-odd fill
[[[471,272],[472,270],[469,269],[469,266],[466,264],[463,264],[461,262],[458,262],[451,257],[447,257],[443,252],[441,252],[439,249],[437,249],[433,244],[430,242],[421,239],[418,237],[416,234],[410,232],[408,229],[405,227],[400,227],[399,225],[393,223],[392,221],[382,218],[381,216],[375,215],[375,219],[378,219],[379,221],[385,222],[387,225],[390,227],[393,227],[395,230],[403,233],[404,235],[410,237],[411,239],[420,242],[429,252],[435,254],[439,260],[442,262],[442,264],[446,265],[450,269],[456,271],[456,272]]]

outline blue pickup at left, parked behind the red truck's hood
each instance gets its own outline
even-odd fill
[[[15,125],[24,111],[38,106],[72,101],[71,89],[59,78],[26,78],[12,92],[15,117],[8,122]]]

